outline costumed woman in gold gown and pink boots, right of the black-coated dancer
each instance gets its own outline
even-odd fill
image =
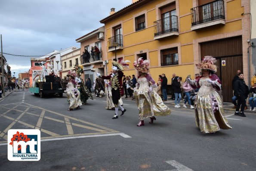
[[[154,89],[157,85],[149,72],[149,61],[139,58],[134,61],[133,66],[139,71],[138,82],[134,88],[134,98],[139,109],[139,123],[137,126],[144,125],[144,119],[150,118],[151,124],[156,120],[155,116],[170,115],[171,110],[165,104]],[[150,85],[151,83],[151,85]]]

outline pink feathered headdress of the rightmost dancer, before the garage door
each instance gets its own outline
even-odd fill
[[[216,58],[213,58],[212,56],[205,56],[200,63],[196,64],[196,66],[197,69],[211,70],[213,73],[216,73],[217,66],[214,64],[216,61]]]

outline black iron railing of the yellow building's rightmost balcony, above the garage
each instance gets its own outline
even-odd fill
[[[217,19],[225,19],[224,0],[216,0],[191,9],[192,26]]]

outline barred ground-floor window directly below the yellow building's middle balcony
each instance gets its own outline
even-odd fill
[[[178,65],[178,48],[161,50],[161,66]]]

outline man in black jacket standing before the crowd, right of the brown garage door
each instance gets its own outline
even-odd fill
[[[234,82],[234,95],[238,99],[238,104],[236,107],[235,115],[245,117],[244,114],[244,107],[246,106],[246,97],[248,96],[248,86],[244,82],[244,73],[239,73],[238,74],[239,79],[237,79]],[[241,110],[239,112],[239,108],[241,106]]]

